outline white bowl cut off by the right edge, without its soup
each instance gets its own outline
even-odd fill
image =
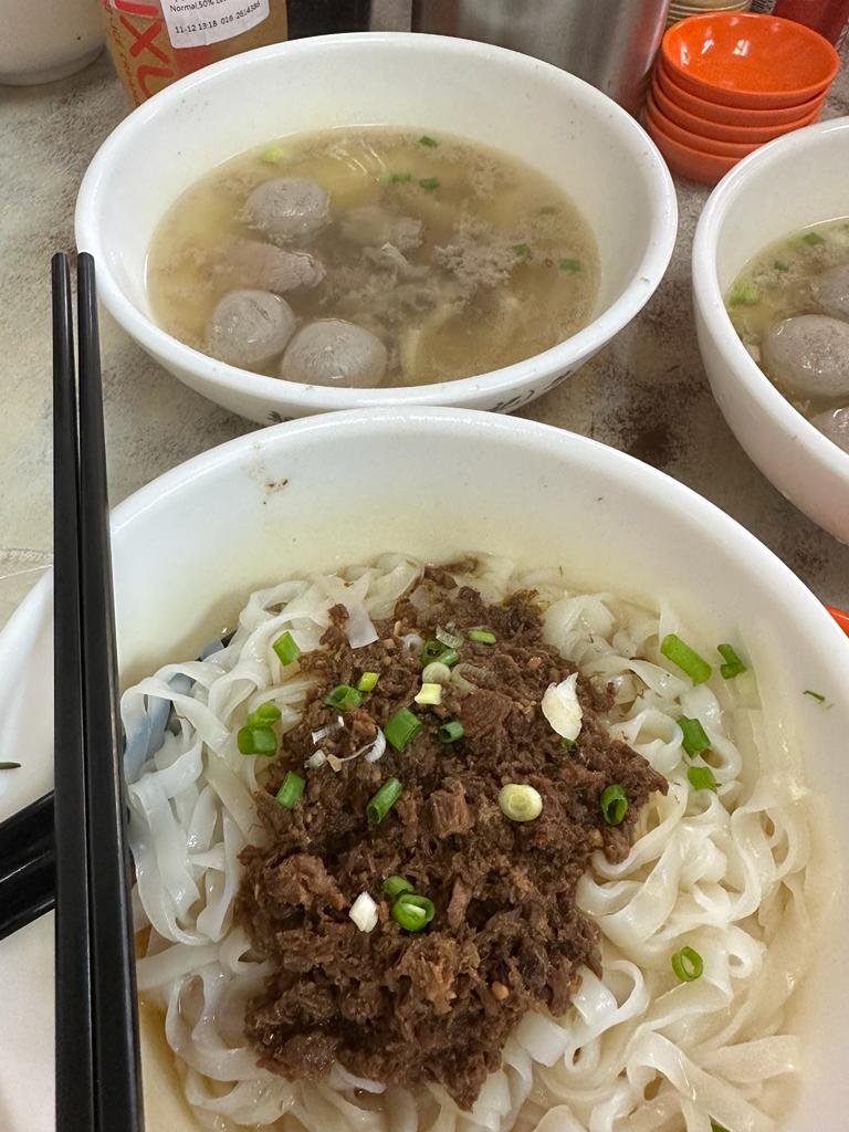
[[[698,345],[734,435],[779,491],[849,542],[849,454],[805,420],[755,365],[722,295],[774,240],[849,215],[849,118],[808,126],[736,165],[711,194],[693,245]]]

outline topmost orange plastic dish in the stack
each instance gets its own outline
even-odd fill
[[[825,93],[840,68],[837,51],[817,32],[753,12],[689,16],[669,28],[661,53],[678,86],[741,108],[807,102]]]

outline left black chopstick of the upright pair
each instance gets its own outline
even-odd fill
[[[87,805],[84,774],[79,474],[68,257],[53,256],[53,811],[55,1126],[95,1127]]]

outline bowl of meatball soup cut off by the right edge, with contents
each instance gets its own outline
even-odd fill
[[[693,248],[702,359],[751,458],[849,542],[849,118],[758,149],[714,189]]]

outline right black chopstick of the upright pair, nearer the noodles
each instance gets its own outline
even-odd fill
[[[97,1127],[143,1120],[94,259],[77,261],[80,573]]]

